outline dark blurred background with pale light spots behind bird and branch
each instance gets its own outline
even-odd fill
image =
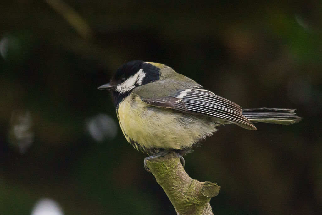
[[[0,2],[0,214],[175,214],[109,93],[127,61],[164,63],[295,125],[229,125],[185,156],[214,214],[322,214],[321,1]],[[46,212],[47,211],[47,212]]]

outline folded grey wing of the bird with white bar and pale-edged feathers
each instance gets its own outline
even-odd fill
[[[243,128],[256,130],[256,127],[242,115],[239,105],[205,89],[175,90],[172,95],[166,97],[141,99],[153,106],[223,119]]]

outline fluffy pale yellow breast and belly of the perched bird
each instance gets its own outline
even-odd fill
[[[119,104],[118,120],[128,142],[141,150],[191,148],[211,136],[217,125],[208,117],[150,106],[136,95]]]

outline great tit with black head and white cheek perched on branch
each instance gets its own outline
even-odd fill
[[[222,124],[256,130],[256,122],[289,125],[301,119],[295,109],[242,109],[171,67],[154,62],[125,63],[98,89],[112,92],[125,138],[149,155],[163,150],[190,152]]]

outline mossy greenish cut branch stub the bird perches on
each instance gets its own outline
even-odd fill
[[[220,186],[199,182],[185,172],[175,152],[145,162],[173,204],[177,214],[213,214],[209,201],[218,195]]]

